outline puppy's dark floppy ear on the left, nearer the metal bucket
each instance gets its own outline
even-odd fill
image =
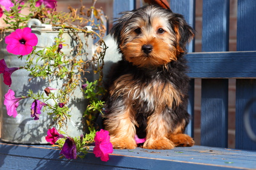
[[[120,13],[121,17],[114,20],[114,25],[112,29],[110,29],[110,34],[114,37],[115,41],[118,43],[118,47],[121,44],[121,32],[124,27],[127,26],[127,22],[132,17],[133,11],[124,11]]]

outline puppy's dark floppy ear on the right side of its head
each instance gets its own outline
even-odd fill
[[[171,27],[178,41],[178,51],[185,52],[186,45],[194,37],[194,29],[185,21],[181,14],[173,13],[173,17],[169,20]]]

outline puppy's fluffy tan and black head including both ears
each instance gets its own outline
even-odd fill
[[[138,67],[159,67],[175,61],[194,36],[181,14],[155,5],[121,14],[110,34],[123,59]]]

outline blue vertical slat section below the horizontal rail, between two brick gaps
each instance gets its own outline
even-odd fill
[[[228,79],[206,79],[202,88],[201,144],[227,147]],[[220,88],[219,84],[222,84]],[[226,87],[224,87],[226,85]],[[210,97],[209,97],[210,96]],[[209,111],[209,108],[211,109]]]

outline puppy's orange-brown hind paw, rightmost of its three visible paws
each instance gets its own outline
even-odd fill
[[[171,136],[171,141],[176,147],[192,147],[194,145],[194,140],[186,134],[177,134]]]

